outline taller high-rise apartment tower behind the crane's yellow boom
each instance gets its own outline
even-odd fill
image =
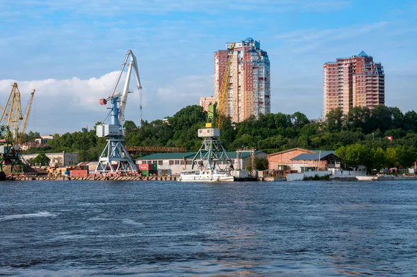
[[[226,44],[226,49],[231,42]],[[218,100],[229,50],[214,53],[214,97]],[[270,113],[270,61],[261,43],[247,38],[236,42],[229,75],[227,114],[233,122],[240,122],[252,114]]]

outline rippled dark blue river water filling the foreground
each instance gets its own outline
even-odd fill
[[[417,182],[0,182],[0,275],[416,276]]]

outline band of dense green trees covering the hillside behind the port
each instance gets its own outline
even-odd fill
[[[202,141],[197,137],[197,129],[204,127],[205,122],[206,112],[197,105],[186,106],[168,118],[167,122],[145,121],[138,127],[127,120],[124,123],[126,145],[186,147],[188,151],[197,151]],[[414,152],[414,156],[417,148],[417,113],[402,113],[400,109],[389,106],[377,106],[372,112],[367,108],[354,107],[346,116],[343,116],[341,109],[334,109],[327,115],[327,121],[314,122],[310,122],[300,112],[292,115],[269,113],[259,116],[258,119],[252,116],[236,124],[232,124],[231,120],[224,120],[221,129],[220,139],[229,151],[256,148],[271,153],[296,147],[316,150],[341,148],[338,151],[340,154],[342,151],[356,151],[358,145],[361,145],[361,149],[369,155],[382,156],[384,152],[385,157],[381,158],[384,162],[379,161],[379,166],[369,165],[373,168],[389,166],[385,159],[389,160],[388,157],[393,156],[390,153],[394,150],[402,151],[400,147]],[[83,159],[83,150],[86,149],[84,160],[94,161],[98,159],[105,145],[106,139],[97,138],[95,129],[92,129],[62,136],[56,134],[46,148],[34,148],[29,152],[78,151]],[[414,159],[414,156],[407,159]],[[371,158],[359,158],[361,163],[366,159]],[[404,162],[397,159],[400,158],[395,158],[395,166],[409,165],[408,160]],[[346,166],[356,166],[357,163],[350,159],[343,162]]]

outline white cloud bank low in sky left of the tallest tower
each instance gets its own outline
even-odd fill
[[[17,82],[26,109],[28,97],[35,88],[35,97],[28,130],[44,133],[74,132],[85,125],[103,121],[109,109],[99,104],[99,99],[110,95],[118,72],[110,72],[90,79],[44,79],[33,81],[0,80],[0,105],[6,104],[11,85]],[[132,77],[133,78],[133,77]],[[117,91],[124,85],[125,74]],[[213,94],[213,76],[189,76],[165,83],[141,80],[143,119],[152,121],[172,116],[184,106],[198,104],[199,97]],[[136,82],[131,80],[126,106],[126,120],[139,122],[140,97]]]

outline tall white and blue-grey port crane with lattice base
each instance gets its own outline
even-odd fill
[[[128,66],[128,69],[123,91],[122,93],[116,93],[117,85],[119,84],[126,65]],[[127,95],[130,93],[129,83],[132,69],[135,72],[137,88],[138,90],[141,90],[142,85],[140,84],[136,56],[131,50],[129,50],[126,53],[126,58],[124,59],[124,63],[122,63],[122,69],[119,72],[111,95],[107,98],[99,100],[101,105],[106,105],[110,102],[111,111],[108,114],[110,124],[101,124],[96,126],[97,136],[107,139],[106,147],[103,152],[101,152],[99,157],[99,163],[97,164],[97,169],[95,171],[96,173],[129,173],[137,171],[136,164],[133,163],[129,152],[127,152],[123,139],[124,111],[126,111]],[[140,108],[142,108],[142,106],[140,106]]]

